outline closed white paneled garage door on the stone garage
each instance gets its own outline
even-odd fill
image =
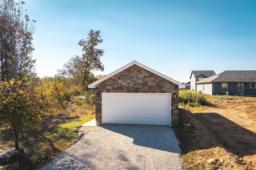
[[[102,93],[102,124],[170,125],[171,93]]]

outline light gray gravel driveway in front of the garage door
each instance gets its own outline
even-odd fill
[[[180,153],[170,127],[101,125],[42,170],[180,170]]]

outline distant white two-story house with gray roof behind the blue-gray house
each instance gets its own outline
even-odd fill
[[[196,90],[196,82],[213,75],[216,75],[213,70],[192,71],[190,74],[190,90]]]

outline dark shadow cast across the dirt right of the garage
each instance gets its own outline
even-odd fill
[[[186,123],[191,126],[184,127]],[[256,154],[256,134],[218,113],[190,113],[179,109],[179,126],[174,131],[182,154],[216,146],[240,157]]]

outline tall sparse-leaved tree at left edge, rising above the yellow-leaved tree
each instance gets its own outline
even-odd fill
[[[32,34],[35,21],[24,14],[24,2],[0,0],[1,80],[22,80],[33,75]]]

